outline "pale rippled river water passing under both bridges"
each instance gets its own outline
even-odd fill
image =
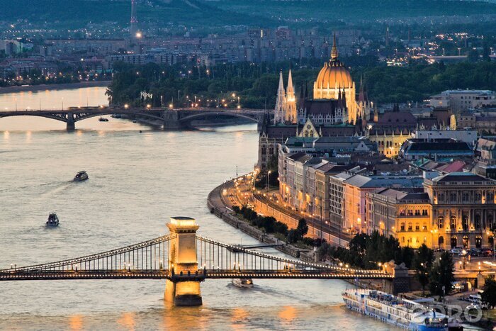
[[[0,95],[0,108],[98,105],[104,88]],[[0,268],[103,252],[167,232],[170,216],[196,218],[199,233],[255,243],[206,207],[210,190],[249,172],[256,125],[164,132],[111,118],[65,124],[45,118],[0,119]],[[142,132],[140,133],[140,130]],[[86,170],[89,181],[72,177]],[[59,228],[45,228],[50,211]],[[265,252],[278,254],[267,249]],[[36,330],[390,330],[344,308],[334,280],[228,280],[202,286],[204,305],[164,305],[164,281],[19,281],[1,283],[0,329]]]

